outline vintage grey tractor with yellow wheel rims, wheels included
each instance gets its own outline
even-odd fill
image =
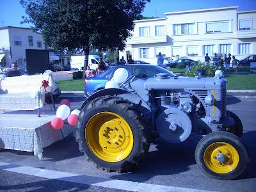
[[[84,101],[76,127],[79,149],[98,168],[129,172],[156,136],[180,143],[202,135],[195,150],[202,172],[234,179],[244,172],[248,153],[241,120],[227,111],[226,89],[222,76],[132,76]]]

